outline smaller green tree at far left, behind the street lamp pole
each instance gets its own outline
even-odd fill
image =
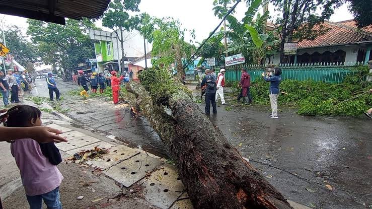
[[[14,56],[17,62],[26,67],[29,62],[34,63],[36,61],[35,47],[22,35],[18,26],[10,26],[4,32],[7,47],[11,50],[9,53]],[[3,38],[3,36],[0,37]]]

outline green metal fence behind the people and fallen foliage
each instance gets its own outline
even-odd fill
[[[297,81],[323,81],[327,83],[341,83],[346,75],[356,73],[358,63],[313,63],[313,64],[286,64],[280,65],[283,80],[291,79]],[[219,71],[221,67],[215,67]],[[261,74],[265,71],[265,66],[239,64],[225,67],[225,78],[227,81],[240,81],[241,69],[246,68],[251,76],[251,81],[261,79]]]

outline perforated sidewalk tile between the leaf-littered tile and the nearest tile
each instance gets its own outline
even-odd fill
[[[160,160],[140,153],[104,171],[106,175],[129,187],[160,165]]]

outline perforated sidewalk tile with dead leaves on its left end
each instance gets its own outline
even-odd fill
[[[104,170],[138,153],[139,151],[136,149],[132,149],[123,145],[117,145],[115,147],[112,147],[109,153],[103,155],[102,158],[88,160],[86,164],[93,167],[102,168]]]

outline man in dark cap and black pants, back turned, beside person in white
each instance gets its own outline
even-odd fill
[[[210,75],[210,69],[205,70],[205,77],[201,82],[201,86],[206,85],[205,88],[205,114],[209,115],[210,113],[210,103],[212,103],[213,113],[217,113],[216,107],[216,81],[212,75]]]

